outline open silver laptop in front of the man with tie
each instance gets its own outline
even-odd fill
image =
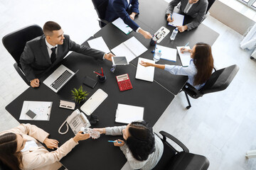
[[[77,71],[78,72],[78,71]],[[77,73],[72,72],[64,65],[60,65],[50,76],[43,81],[46,86],[52,89],[55,93],[58,91]]]

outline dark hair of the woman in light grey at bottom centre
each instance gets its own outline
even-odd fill
[[[146,121],[132,122],[129,125],[129,137],[127,146],[132,152],[132,156],[138,161],[145,161],[149,154],[155,151],[154,133]]]

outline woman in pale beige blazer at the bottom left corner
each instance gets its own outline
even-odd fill
[[[87,140],[90,135],[78,132],[63,145],[58,147],[58,141],[48,138],[45,132],[36,125],[21,124],[11,130],[0,132],[0,162],[10,169],[59,169],[60,159],[65,157],[78,141]],[[39,141],[39,142],[38,142]],[[49,149],[57,148],[53,152]]]

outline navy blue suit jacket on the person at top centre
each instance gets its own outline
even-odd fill
[[[131,8],[129,8],[129,5],[131,5]],[[120,17],[132,30],[136,31],[139,26],[129,17],[128,9],[139,14],[139,1],[130,0],[128,4],[127,0],[109,0],[105,20],[112,22]]]

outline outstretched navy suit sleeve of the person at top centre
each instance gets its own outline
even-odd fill
[[[132,28],[132,30],[136,31],[139,28],[138,24],[129,17],[129,14],[127,13],[124,6],[124,1],[114,1],[113,8],[115,13],[117,13],[117,15],[124,21],[124,23]]]

